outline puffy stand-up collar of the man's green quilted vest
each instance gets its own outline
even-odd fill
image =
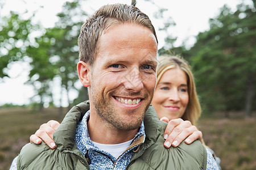
[[[77,124],[82,120],[84,114],[90,109],[89,100],[73,107],[61,122],[59,128],[53,134],[53,140],[60,151],[71,151],[75,145],[75,132]],[[147,109],[144,116],[146,141],[144,149],[153,145],[160,135],[159,118],[152,105]]]

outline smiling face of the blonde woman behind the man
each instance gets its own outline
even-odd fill
[[[188,105],[187,76],[179,67],[167,70],[159,80],[151,104],[159,119],[181,118]]]

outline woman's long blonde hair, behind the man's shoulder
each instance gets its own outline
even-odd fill
[[[185,61],[185,59],[178,56],[160,56],[158,57],[158,61],[159,63],[157,70],[156,86],[158,86],[159,80],[167,70],[180,68],[187,75],[189,100],[187,108],[185,109],[185,112],[181,118],[183,120],[190,121],[192,125],[196,126],[196,122],[201,115],[201,105],[197,97],[196,86],[191,67],[189,66],[188,62]]]

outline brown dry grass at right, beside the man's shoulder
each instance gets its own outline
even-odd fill
[[[256,169],[256,118],[238,115],[199,121],[204,141],[221,159],[223,170]]]

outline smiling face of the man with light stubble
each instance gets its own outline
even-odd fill
[[[108,28],[98,41],[92,66],[91,112],[111,128],[139,128],[154,94],[156,53],[150,29],[131,23]]]

